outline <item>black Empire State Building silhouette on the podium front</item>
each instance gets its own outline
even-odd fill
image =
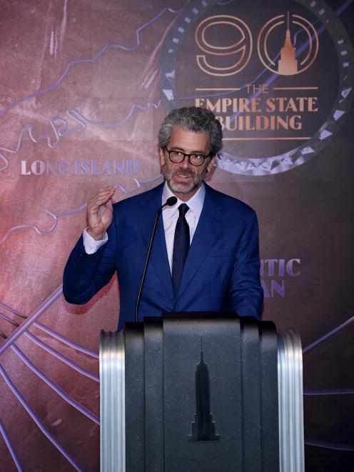
[[[211,416],[209,371],[203,359],[203,338],[201,337],[201,361],[196,368],[196,414],[192,423],[189,441],[218,441],[215,423]]]

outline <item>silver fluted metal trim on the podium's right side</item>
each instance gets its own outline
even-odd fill
[[[295,331],[278,332],[280,472],[304,472],[303,351]]]

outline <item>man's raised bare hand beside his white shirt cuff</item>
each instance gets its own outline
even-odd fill
[[[115,191],[113,186],[102,187],[87,204],[86,215],[89,222],[87,232],[96,241],[103,239],[112,222],[112,197]]]

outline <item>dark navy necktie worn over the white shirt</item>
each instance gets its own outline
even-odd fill
[[[186,221],[186,213],[188,210],[189,207],[186,204],[178,206],[179,216],[176,224],[175,238],[173,240],[172,257],[172,282],[175,293],[177,293],[190,246],[189,226]]]

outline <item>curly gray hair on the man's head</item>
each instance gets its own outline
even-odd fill
[[[185,106],[170,111],[158,132],[158,144],[161,148],[167,146],[173,126],[181,126],[181,128],[194,133],[207,131],[211,141],[211,156],[216,156],[220,151],[223,131],[221,130],[220,121],[216,119],[212,111],[198,106]]]

